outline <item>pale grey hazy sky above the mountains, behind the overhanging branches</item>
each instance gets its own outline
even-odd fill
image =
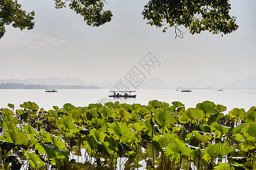
[[[150,52],[161,63],[147,78],[164,82],[205,79],[236,80],[256,75],[256,1],[233,0],[239,28],[229,35],[203,32],[174,39],[174,28],[146,25],[141,12],[148,1],[109,0],[112,22],[86,25],[69,8],[56,10],[53,0],[19,0],[35,11],[35,28],[7,26],[0,39],[0,79],[66,78],[86,83],[125,76]],[[184,29],[185,31],[185,29]],[[141,70],[143,71],[143,70]]]

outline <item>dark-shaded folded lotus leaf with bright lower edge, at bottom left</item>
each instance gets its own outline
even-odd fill
[[[42,144],[42,146],[50,159],[68,160],[68,151],[61,151],[58,147],[52,147],[46,144]]]

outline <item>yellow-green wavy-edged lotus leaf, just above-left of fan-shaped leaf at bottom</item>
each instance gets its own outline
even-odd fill
[[[153,141],[158,142],[161,148],[167,147],[169,143],[174,143],[176,139],[178,139],[178,137],[170,132],[164,134],[163,136],[153,137]]]

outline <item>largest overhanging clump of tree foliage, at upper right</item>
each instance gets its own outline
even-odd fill
[[[192,34],[202,31],[227,34],[238,28],[236,16],[229,15],[230,6],[229,0],[151,0],[144,6],[142,15],[149,20],[147,24],[175,27],[175,32],[177,26],[183,25]],[[182,32],[178,33],[182,37]]]

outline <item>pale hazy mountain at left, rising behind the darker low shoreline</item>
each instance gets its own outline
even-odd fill
[[[35,85],[63,85],[63,86],[72,86],[72,85],[80,85],[80,86],[89,86],[88,83],[83,82],[80,79],[75,77],[68,77],[65,79],[58,79],[55,77],[48,78],[29,78],[24,80],[18,79],[6,79],[0,80],[0,83],[23,83],[23,84],[35,84]]]

